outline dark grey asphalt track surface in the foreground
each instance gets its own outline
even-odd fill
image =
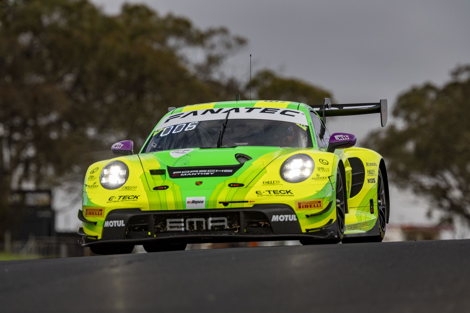
[[[470,312],[470,240],[0,263],[0,312]]]

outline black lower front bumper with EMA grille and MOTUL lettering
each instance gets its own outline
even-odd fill
[[[101,239],[86,233],[79,244],[216,243],[336,237],[336,221],[303,233],[296,213],[285,204],[249,208],[141,211],[117,209],[104,221]]]

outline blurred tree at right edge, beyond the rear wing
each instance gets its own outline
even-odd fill
[[[470,65],[452,71],[442,88],[426,83],[403,92],[395,123],[367,144],[388,162],[389,178],[431,199],[430,209],[470,223]]]

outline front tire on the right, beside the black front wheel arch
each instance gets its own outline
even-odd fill
[[[300,243],[306,244],[338,244],[345,235],[345,219],[346,219],[346,189],[343,179],[343,173],[338,168],[336,174],[336,238],[332,239],[300,239]]]

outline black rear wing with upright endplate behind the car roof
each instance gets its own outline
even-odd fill
[[[376,103],[353,103],[353,104],[331,104],[328,98],[323,99],[322,107],[313,107],[318,115],[323,117],[323,122],[327,116],[346,116],[380,113],[382,127],[387,124],[387,99],[381,99]]]

